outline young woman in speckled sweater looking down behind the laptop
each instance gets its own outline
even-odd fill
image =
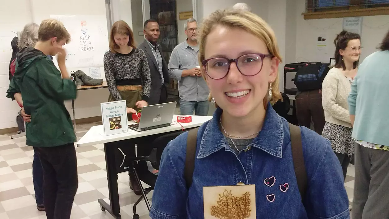
[[[128,119],[131,120],[131,113],[147,106],[150,97],[151,74],[147,57],[142,49],[135,48],[133,32],[122,20],[112,25],[109,48],[104,55],[105,79],[110,92],[108,101],[126,100]],[[131,189],[140,195],[135,176],[132,172],[128,175]]]

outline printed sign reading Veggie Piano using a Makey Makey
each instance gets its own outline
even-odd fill
[[[128,131],[127,107],[125,100],[103,102],[100,105],[105,136]]]

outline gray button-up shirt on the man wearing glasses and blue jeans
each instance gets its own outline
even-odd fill
[[[178,44],[170,57],[168,69],[170,78],[178,81],[180,98],[184,101],[202,102],[208,100],[209,89],[203,77],[186,76],[182,71],[193,69],[198,64],[198,46],[189,46],[186,41]]]

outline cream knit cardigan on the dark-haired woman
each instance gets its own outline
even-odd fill
[[[349,104],[347,99],[351,91],[349,79],[342,69],[333,67],[323,81],[322,104],[326,122],[351,128]]]

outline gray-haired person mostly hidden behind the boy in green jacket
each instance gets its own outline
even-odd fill
[[[37,25],[36,23],[26,24],[22,32],[20,32],[19,34],[18,48],[23,49],[26,47],[34,47],[35,43],[38,41],[38,30],[39,30],[39,25]],[[13,61],[11,65],[14,65],[15,63],[16,61]],[[23,99],[21,97],[21,94],[17,93],[14,96],[18,101],[19,106],[23,108]],[[23,109],[22,109],[22,114],[25,115]],[[43,170],[37,153],[34,153],[34,159],[32,162],[32,180],[33,180],[34,191],[35,191],[35,200],[37,202],[37,209],[40,211],[44,211],[45,207],[43,205],[43,191],[42,191]]]

